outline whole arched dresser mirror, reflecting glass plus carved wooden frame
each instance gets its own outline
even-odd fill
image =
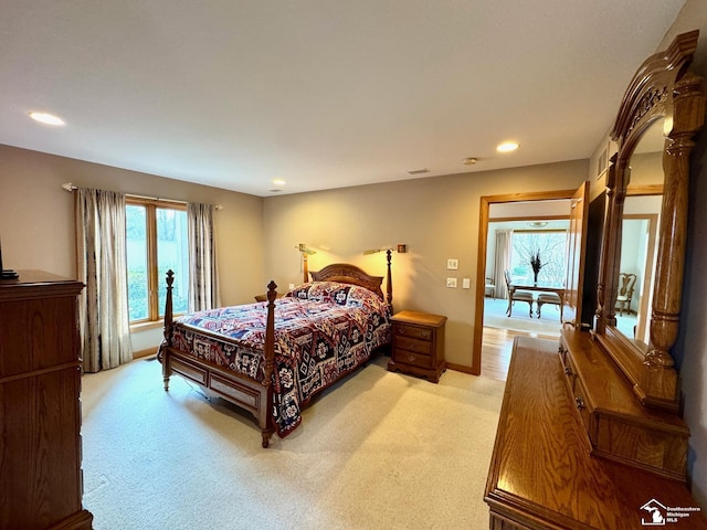
[[[623,97],[611,132],[618,152],[606,177],[609,203],[597,289],[594,337],[644,405],[671,411],[678,407],[671,348],[679,327],[689,153],[693,137],[705,120],[701,80],[687,70],[698,34],[678,35],[665,52],[648,57]],[[651,218],[657,224],[653,250],[650,236],[643,247],[626,250],[629,243],[636,243],[627,224],[635,215],[635,195],[662,198],[659,213]],[[648,265],[650,256],[653,263]],[[635,276],[629,278],[634,282],[633,296],[636,292],[641,296],[627,304],[626,277],[631,274]],[[639,312],[641,306],[644,314]],[[636,311],[636,324],[626,326],[622,312],[631,310]]]

